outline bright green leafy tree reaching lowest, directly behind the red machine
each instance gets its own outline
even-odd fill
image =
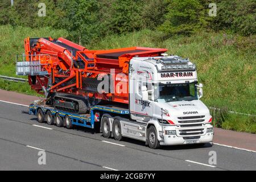
[[[96,21],[99,3],[97,0],[63,0],[57,3],[60,7],[59,22],[56,28],[64,28],[69,38],[80,44],[88,44],[98,34]]]

